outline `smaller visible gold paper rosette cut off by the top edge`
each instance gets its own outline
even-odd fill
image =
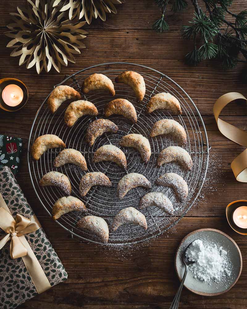
[[[92,17],[106,20],[106,13],[117,13],[115,4],[124,3],[125,0],[55,0],[54,6],[63,3],[60,11],[69,10],[69,19],[77,16],[81,19],[85,15],[86,22],[91,23]]]

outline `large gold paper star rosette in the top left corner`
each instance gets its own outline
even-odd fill
[[[14,48],[10,56],[21,56],[19,65],[26,63],[27,69],[36,65],[38,74],[49,72],[53,66],[58,72],[68,61],[75,63],[73,55],[85,48],[81,42],[87,34],[82,30],[86,23],[77,18],[68,19],[68,13],[61,12],[61,5],[55,0],[27,0],[26,8],[17,7],[12,13],[14,23],[7,27],[6,36],[13,38],[7,47]]]

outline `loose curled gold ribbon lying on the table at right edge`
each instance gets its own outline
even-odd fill
[[[214,104],[213,113],[220,132],[231,141],[247,147],[247,132],[230,125],[219,118],[222,109],[233,100],[244,99],[244,95],[238,92],[229,92],[222,95]],[[247,149],[238,155],[231,163],[231,168],[237,181],[247,182]]]

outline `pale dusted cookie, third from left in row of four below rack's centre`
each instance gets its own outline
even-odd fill
[[[129,190],[136,187],[151,188],[151,183],[147,178],[138,173],[130,173],[119,180],[117,196],[122,199]]]

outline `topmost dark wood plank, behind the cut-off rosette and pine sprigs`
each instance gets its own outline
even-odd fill
[[[169,3],[166,8],[165,16],[166,21],[170,26],[170,29],[180,29],[183,25],[187,24],[193,18],[194,6],[191,1],[188,2],[188,8],[182,13],[174,13],[172,3]],[[17,13],[17,6],[25,6],[25,0],[14,0],[6,4],[2,1],[0,3],[0,11],[5,14],[0,21],[0,27],[5,27],[11,23],[11,17],[9,13]],[[205,4],[199,1],[199,5],[205,10]],[[107,19],[103,22],[101,19],[93,19],[90,25],[85,25],[87,29],[145,29],[151,30],[153,23],[160,18],[161,13],[152,0],[142,0],[136,2],[135,0],[128,0],[122,5],[117,5],[117,15],[107,14]],[[245,9],[245,0],[233,1],[231,11],[239,13]],[[233,19],[229,16],[228,20]],[[165,34],[164,34],[165,35]]]

